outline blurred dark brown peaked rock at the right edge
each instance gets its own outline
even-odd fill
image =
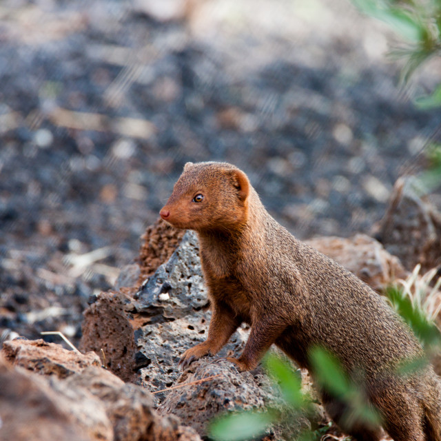
[[[416,178],[399,178],[377,236],[407,270],[424,272],[441,265],[441,214],[420,194]]]

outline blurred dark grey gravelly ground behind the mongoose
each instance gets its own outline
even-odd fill
[[[1,1],[0,332],[78,338],[187,161],[299,238],[371,233],[441,141],[440,61],[399,87],[394,38],[349,0]]]

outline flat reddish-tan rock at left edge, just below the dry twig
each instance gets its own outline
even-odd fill
[[[14,366],[46,376],[66,378],[89,366],[101,366],[94,352],[86,354],[63,349],[60,345],[43,340],[16,339],[3,342],[3,356]]]

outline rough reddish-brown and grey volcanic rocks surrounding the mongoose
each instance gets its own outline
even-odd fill
[[[410,206],[406,191],[383,227],[404,232],[403,205]],[[421,200],[419,207],[424,211],[413,217],[413,224],[432,219],[431,229],[441,242],[441,215]],[[423,225],[418,232],[424,232]],[[406,236],[412,236],[411,230]],[[409,274],[396,256],[363,234],[308,243],[378,290]],[[402,245],[411,255],[412,240]],[[283,404],[280,390],[261,367],[239,373],[222,358],[243,350],[247,326],[234,333],[218,354],[221,358],[203,357],[185,371],[178,369],[183,351],[205,340],[210,317],[194,232],[176,235],[163,221],[152,225],[138,262],[121,271],[112,290],[90,299],[82,353],[43,340],[3,343],[0,440],[197,441],[199,436],[207,438],[213,419],[225,411],[267,407],[276,409],[281,419],[269,424],[259,439],[283,441],[320,427],[334,438],[340,436],[336,439],[344,438],[329,423],[306,371],[300,373],[303,387],[316,398],[311,411],[301,413]],[[438,302],[440,298],[438,293]],[[434,366],[441,372],[439,360]],[[22,409],[19,419],[16,409]],[[28,422],[24,425],[23,411]]]

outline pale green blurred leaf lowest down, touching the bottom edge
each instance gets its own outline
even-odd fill
[[[209,436],[216,441],[245,441],[265,432],[274,421],[270,411],[229,413],[209,425]]]

